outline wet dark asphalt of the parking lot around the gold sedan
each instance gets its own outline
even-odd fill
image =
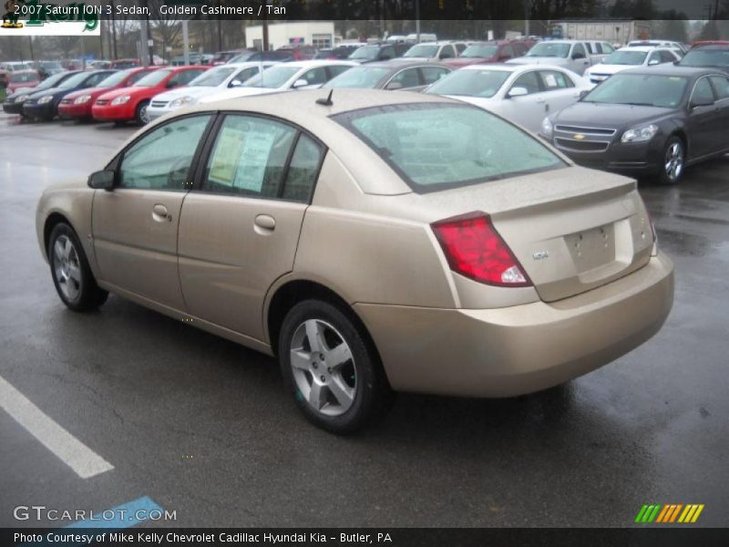
[[[38,523],[17,505],[145,495],[178,526],[629,526],[652,502],[729,524],[729,159],[642,185],[676,267],[645,345],[529,397],[401,395],[342,439],[300,416],[271,358],[117,296],[87,315],[60,303],[37,198],[133,130],[0,116],[0,377],[114,466],[80,479],[0,410],[0,526]]]

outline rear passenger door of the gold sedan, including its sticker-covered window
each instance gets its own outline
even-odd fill
[[[180,284],[191,315],[263,339],[263,300],[293,269],[324,149],[276,119],[216,124],[180,218]]]

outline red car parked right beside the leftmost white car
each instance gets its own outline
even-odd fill
[[[139,125],[146,124],[149,100],[155,95],[171,88],[179,88],[190,83],[210,67],[165,67],[139,79],[133,86],[115,89],[99,96],[91,108],[94,119],[122,123],[135,120]]]

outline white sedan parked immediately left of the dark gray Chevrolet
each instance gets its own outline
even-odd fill
[[[426,89],[495,112],[534,133],[545,116],[569,107],[590,83],[571,70],[549,65],[470,65]]]

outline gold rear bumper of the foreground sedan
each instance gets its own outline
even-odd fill
[[[673,305],[673,263],[547,304],[457,310],[355,304],[392,387],[510,397],[557,386],[610,363],[661,328]]]

